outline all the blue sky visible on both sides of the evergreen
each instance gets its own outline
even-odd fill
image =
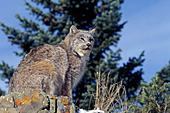
[[[168,64],[170,60],[170,0],[125,0],[122,4],[121,22],[128,21],[124,26],[118,47],[122,49],[122,61],[129,57],[138,57],[145,51],[143,78],[147,82],[156,72]],[[0,22],[20,28],[16,13],[29,18],[25,10],[24,0],[3,0],[0,3]],[[17,67],[21,57],[16,57],[13,51],[17,46],[11,46],[6,36],[0,31],[0,62],[4,60]],[[0,88],[8,90],[0,81]]]

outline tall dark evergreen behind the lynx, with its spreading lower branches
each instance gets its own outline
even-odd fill
[[[121,60],[120,49],[116,50],[121,37],[119,32],[124,23],[121,19],[121,4],[123,0],[31,0],[25,2],[27,10],[35,19],[28,20],[19,14],[16,18],[20,21],[23,29],[15,29],[1,23],[2,31],[8,36],[9,42],[18,45],[22,52],[15,51],[17,56],[24,56],[30,49],[43,44],[57,44],[69,31],[72,24],[78,29],[92,29],[96,25],[94,49],[90,55],[90,62],[87,64],[85,77],[81,84],[74,90],[74,102],[81,107],[88,107],[89,100],[86,98],[87,89],[95,90],[95,72],[98,68],[101,71],[111,72],[110,82],[118,82],[124,79],[124,85],[129,91],[128,96],[134,94],[136,87],[143,80],[142,70],[134,70],[143,63],[143,53],[139,58],[129,59],[127,64],[118,67]],[[35,7],[35,4],[37,7]],[[112,49],[114,48],[114,49]],[[129,67],[130,66],[130,67]],[[1,65],[1,77],[10,80],[14,70],[8,67],[5,72]],[[8,76],[5,73],[9,74]],[[137,80],[134,82],[134,80]],[[85,99],[86,98],[86,99]],[[80,104],[81,103],[81,104]]]

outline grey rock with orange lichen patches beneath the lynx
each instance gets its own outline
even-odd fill
[[[66,96],[27,90],[1,96],[0,113],[75,113],[75,105]]]

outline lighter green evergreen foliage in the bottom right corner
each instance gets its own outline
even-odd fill
[[[156,75],[152,82],[141,83],[141,94],[129,112],[136,113],[169,113],[170,112],[170,83]],[[139,103],[141,106],[139,106]]]

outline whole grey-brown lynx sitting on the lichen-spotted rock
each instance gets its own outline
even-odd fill
[[[94,45],[94,31],[79,30],[72,25],[59,44],[30,50],[14,72],[8,93],[41,89],[51,95],[72,98],[72,89],[81,80]]]

